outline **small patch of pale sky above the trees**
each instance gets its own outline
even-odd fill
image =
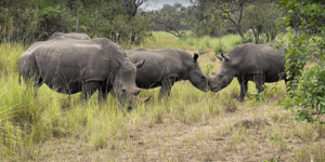
[[[176,2],[178,3],[181,3],[183,6],[188,6],[191,5],[191,2],[190,0],[158,0],[156,3],[153,2],[153,0],[150,0],[147,3],[148,3],[148,6],[146,6],[145,10],[158,10],[158,9],[161,9],[164,6],[164,4],[170,4],[170,5],[173,5]],[[145,4],[142,4],[143,6],[145,6]],[[141,5],[141,6],[142,6]],[[140,6],[140,8],[141,8]],[[142,6],[142,8],[143,8]]]

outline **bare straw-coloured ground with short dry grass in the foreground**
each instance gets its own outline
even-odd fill
[[[275,102],[274,102],[275,103]],[[292,126],[272,119],[288,112],[275,107],[273,102],[257,107],[252,113],[245,103],[239,103],[235,112],[216,116],[207,122],[184,124],[164,117],[153,126],[142,119],[131,126],[123,138],[109,138],[103,148],[95,149],[87,140],[75,137],[53,138],[40,146],[36,161],[245,161],[263,160],[299,161],[297,150],[311,145],[325,147],[325,138],[314,141],[290,135],[283,141],[271,141],[278,133],[288,133]],[[243,120],[266,125],[240,126]],[[323,150],[324,151],[324,150]],[[309,157],[313,160],[313,156]]]

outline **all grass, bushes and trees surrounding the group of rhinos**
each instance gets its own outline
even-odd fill
[[[0,2],[0,161],[325,161],[323,1],[191,0],[188,8],[150,12],[143,2]],[[46,85],[35,98],[18,84],[17,63],[54,31],[109,38],[125,50],[199,53],[207,75],[221,66],[216,53],[273,41],[288,45],[298,67],[288,75],[300,77],[288,90],[294,98],[284,81],[265,84],[261,94],[249,83],[244,103],[234,99],[236,80],[218,93],[180,81],[162,104],[159,87],[142,90],[140,96],[153,97],[130,112],[110,95],[103,105],[96,94],[81,104],[80,94]]]

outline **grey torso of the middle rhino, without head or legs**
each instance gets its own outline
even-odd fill
[[[177,50],[150,51],[138,49],[127,51],[127,55],[132,63],[145,59],[145,64],[136,70],[135,82],[142,89],[159,86],[155,83],[161,82],[164,78],[183,79],[186,72],[182,54]]]

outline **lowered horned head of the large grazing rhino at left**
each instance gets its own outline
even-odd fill
[[[121,107],[132,109],[139,103],[146,103],[151,96],[144,99],[136,96],[141,92],[135,85],[136,68],[140,68],[145,60],[132,64],[129,58],[126,59],[121,62],[117,58],[119,70],[115,75],[112,94],[117,97]]]

